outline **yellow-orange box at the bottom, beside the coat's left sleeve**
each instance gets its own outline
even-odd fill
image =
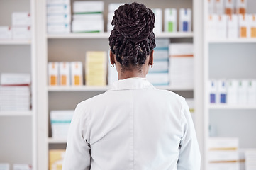
[[[49,170],[62,170],[65,152],[65,149],[50,149]]]

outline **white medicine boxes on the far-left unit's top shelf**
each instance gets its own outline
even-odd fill
[[[30,39],[31,16],[29,12],[13,12],[11,26],[0,26],[0,39]]]

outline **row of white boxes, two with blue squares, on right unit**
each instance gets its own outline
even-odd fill
[[[210,103],[256,104],[255,79],[220,79],[208,83]]]

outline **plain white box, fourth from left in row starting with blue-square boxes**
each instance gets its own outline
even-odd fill
[[[238,84],[238,104],[247,104],[247,88],[249,81],[240,80]]]

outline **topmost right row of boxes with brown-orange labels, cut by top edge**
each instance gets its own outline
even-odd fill
[[[207,3],[209,14],[245,14],[247,9],[247,0],[208,0]]]

